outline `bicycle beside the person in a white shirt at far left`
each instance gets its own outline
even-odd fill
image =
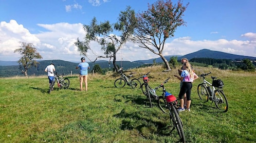
[[[62,77],[60,78],[60,76],[62,76]],[[51,82],[50,89],[48,91],[49,94],[50,94],[51,90],[53,90],[53,87],[54,87],[54,84],[56,81],[57,81],[58,87],[60,89],[62,89],[62,88],[67,89],[69,87],[69,84],[70,84],[69,79],[68,78],[63,79],[63,76],[64,76],[64,74],[62,74],[62,75],[58,75],[57,73],[54,74],[54,80]]]

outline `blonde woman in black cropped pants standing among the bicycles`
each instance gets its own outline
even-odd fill
[[[194,73],[192,66],[190,63],[184,62],[182,65],[181,75],[174,75],[177,77],[180,81],[182,81],[182,86],[179,91],[179,101],[180,101],[180,107],[179,111],[185,111],[184,108],[184,94],[186,93],[187,96],[187,110],[190,111],[190,104],[191,104],[191,89],[192,89],[192,82],[198,78],[198,76]]]

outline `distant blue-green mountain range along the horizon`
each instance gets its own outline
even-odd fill
[[[218,51],[211,51],[207,49],[199,50],[194,53],[190,53],[184,56],[164,56],[168,61],[171,57],[177,57],[178,61],[180,61],[181,58],[213,58],[213,59],[230,59],[232,61],[242,60],[242,59],[250,59],[255,61],[256,57],[250,57],[250,56],[241,56],[241,55],[234,55],[224,52],[218,52]],[[117,65],[120,67],[124,67],[124,69],[130,69],[130,68],[136,68],[144,64],[152,64],[154,63],[160,63],[163,62],[162,59],[156,58],[156,59],[149,59],[149,60],[136,60],[136,61],[117,61]],[[45,75],[44,69],[47,65],[49,65],[51,62],[53,62],[56,66],[56,69],[58,70],[58,73],[64,73],[64,74],[79,74],[79,70],[75,69],[75,67],[78,65],[78,63],[69,62],[69,61],[63,61],[63,60],[43,60],[39,61],[40,64],[38,64],[38,67],[32,67],[29,69],[28,75]],[[108,69],[112,70],[113,64],[108,63],[108,61],[100,60],[96,61],[94,63],[89,62],[90,70],[93,69],[93,66],[95,64],[99,64],[102,69]],[[90,71],[89,70],[89,71]],[[0,61],[0,77],[5,76],[16,76],[21,75],[21,71],[19,69],[19,65],[16,61]]]

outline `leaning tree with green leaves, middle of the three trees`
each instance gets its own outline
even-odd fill
[[[88,50],[91,50],[96,56],[96,59],[93,62],[98,58],[109,58],[110,62],[113,58],[113,65],[117,71],[116,54],[134,33],[136,23],[135,12],[134,10],[131,10],[131,7],[129,6],[125,11],[121,11],[118,21],[113,25],[111,25],[109,21],[100,22],[100,24],[98,24],[96,17],[94,17],[90,25],[84,25],[84,30],[86,32],[85,40],[80,41],[78,38],[75,45],[78,47],[80,54],[86,57]],[[111,34],[114,30],[116,33],[119,33],[119,35]],[[96,41],[101,45],[101,50],[103,51],[102,55],[96,55],[94,53],[94,49],[89,45],[91,41]]]

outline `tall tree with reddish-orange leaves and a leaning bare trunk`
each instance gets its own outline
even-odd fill
[[[183,6],[181,1],[177,5],[171,0],[158,0],[149,5],[147,11],[139,13],[137,16],[137,27],[135,29],[134,42],[139,46],[148,49],[163,60],[166,68],[171,70],[168,60],[163,55],[164,43],[168,38],[174,36],[175,30],[183,26],[186,22],[182,19],[187,6]]]

